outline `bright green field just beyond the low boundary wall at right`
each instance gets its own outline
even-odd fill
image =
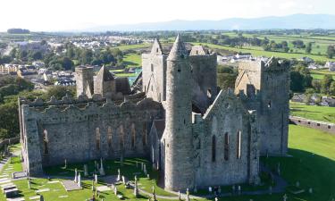
[[[289,104],[290,114],[316,121],[335,123],[335,107],[317,105],[305,105],[291,102]]]

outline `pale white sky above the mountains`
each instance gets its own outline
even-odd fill
[[[0,31],[63,31],[155,21],[335,14],[334,7],[334,0],[0,0]]]

